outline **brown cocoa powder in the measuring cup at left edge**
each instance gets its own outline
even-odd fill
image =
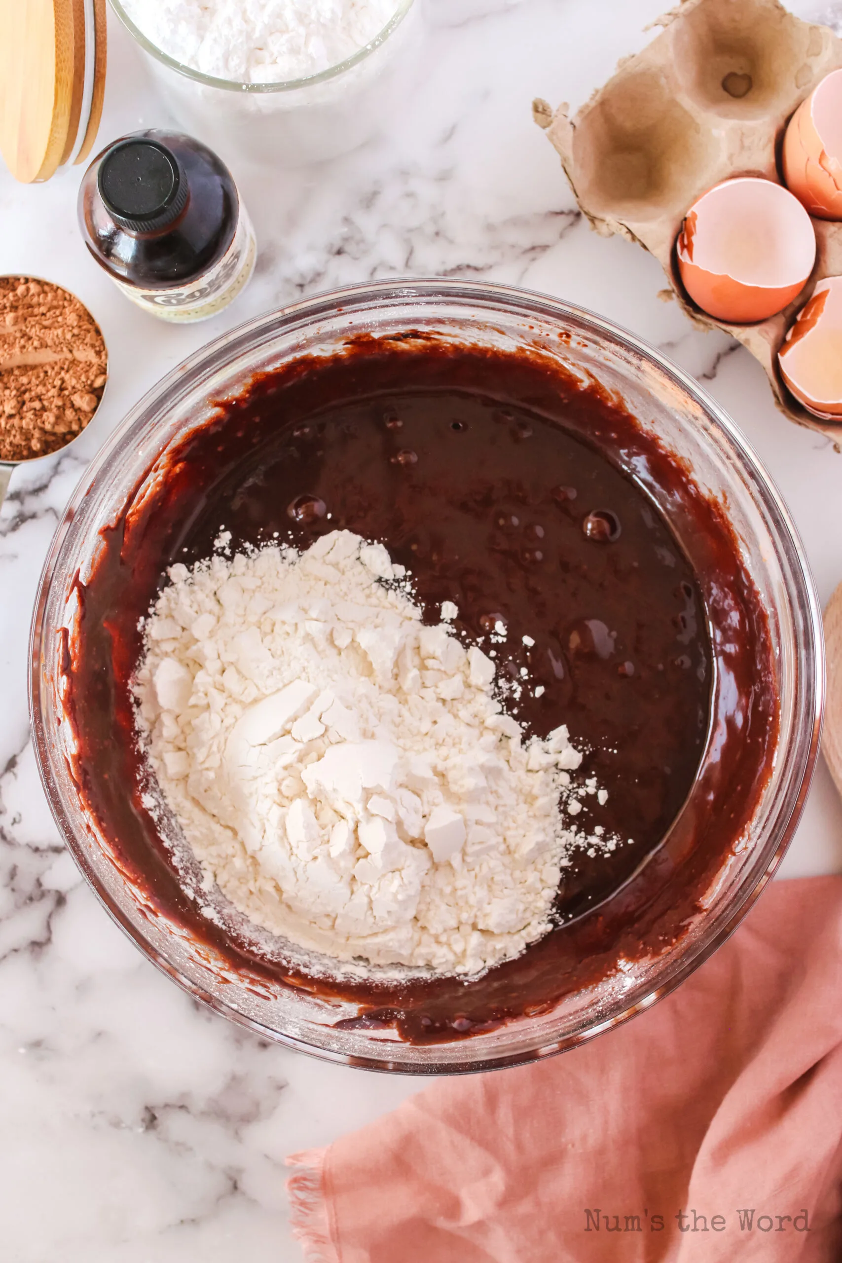
[[[0,461],[64,447],[100,405],[107,355],[78,298],[29,277],[0,277]]]

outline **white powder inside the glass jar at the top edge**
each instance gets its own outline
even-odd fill
[[[398,0],[122,0],[134,24],[183,66],[239,83],[329,69],[380,34]]]

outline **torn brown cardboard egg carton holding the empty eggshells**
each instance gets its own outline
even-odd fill
[[[786,390],[778,351],[817,282],[842,275],[842,222],[813,220],[818,251],[805,288],[759,325],[726,325],[692,302],[678,274],[675,237],[691,205],[720,181],[765,176],[783,183],[786,123],[842,67],[842,40],[778,0],[683,0],[658,25],[663,34],[621,62],[574,119],[567,105],[553,114],[535,101],[535,121],[558,149],[592,227],[654,254],[691,320],[747,346],[780,410],[839,445],[842,426],[813,417]]]

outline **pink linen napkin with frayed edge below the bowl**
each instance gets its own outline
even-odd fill
[[[842,878],[773,883],[593,1043],[288,1161],[311,1263],[842,1259]]]

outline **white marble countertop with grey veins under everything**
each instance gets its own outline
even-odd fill
[[[0,274],[77,293],[109,344],[106,400],[72,453],[18,470],[0,514],[0,1253],[9,1263],[297,1260],[284,1156],[396,1105],[417,1080],[323,1065],[205,1012],[111,923],[66,854],[29,741],[27,638],[42,561],[85,464],[203,342],[270,307],[396,274],[489,278],[649,338],[730,410],[788,500],[824,602],[842,580],[842,456],[773,405],[751,356],[693,330],[658,264],[592,234],[533,96],[578,105],[650,38],[664,0],[430,0],[423,73],[389,134],[309,171],[235,167],[260,242],[237,303],[193,328],[136,311],[87,258],[78,169],[0,171]],[[800,5],[800,11],[809,6]],[[814,9],[821,10],[817,4]],[[598,10],[598,18],[597,18]],[[105,143],[169,119],[110,27]],[[818,768],[783,877],[842,871],[842,806]]]

